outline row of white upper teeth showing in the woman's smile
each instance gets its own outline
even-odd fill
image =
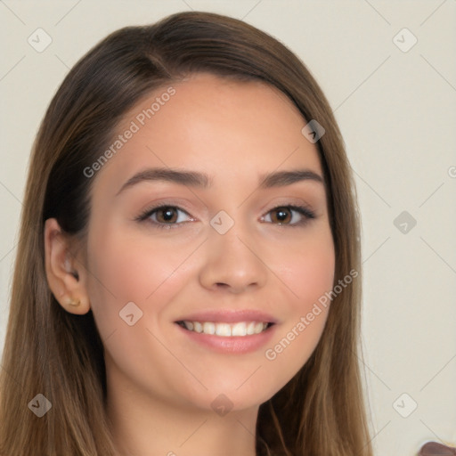
[[[235,336],[253,336],[268,330],[274,323],[272,322],[191,322],[184,320],[176,322],[185,330],[199,334],[209,334],[220,336],[222,338],[231,338]]]

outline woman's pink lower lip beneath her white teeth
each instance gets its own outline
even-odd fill
[[[267,330],[260,332],[259,334],[252,334],[249,336],[231,336],[223,337],[216,336],[215,334],[204,334],[203,332],[195,332],[186,330],[181,325],[175,323],[177,328],[183,333],[194,340],[201,346],[206,346],[217,352],[221,353],[232,353],[232,354],[243,354],[255,352],[261,346],[265,344],[273,337],[276,325],[270,326]]]

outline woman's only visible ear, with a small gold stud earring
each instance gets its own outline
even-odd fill
[[[60,305],[70,314],[86,314],[90,310],[86,269],[81,256],[71,252],[69,236],[65,236],[55,218],[45,221],[45,270],[49,288]]]

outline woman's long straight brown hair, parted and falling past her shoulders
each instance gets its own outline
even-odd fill
[[[53,297],[45,275],[44,224],[55,217],[64,232],[84,240],[93,179],[83,170],[136,102],[196,72],[273,85],[306,120],[325,128],[316,145],[336,249],[335,284],[350,271],[359,274],[332,300],[308,362],[260,406],[257,453],[371,456],[359,370],[359,216],[336,120],[295,54],[240,20],[208,12],[176,13],[113,32],[69,71],[46,111],[28,171],[0,374],[4,456],[115,454],[104,409],[102,340],[92,311],[70,314]],[[28,410],[37,394],[53,404],[42,418]]]

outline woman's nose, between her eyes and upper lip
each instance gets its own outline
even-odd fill
[[[205,244],[205,263],[199,272],[201,286],[234,294],[265,286],[268,268],[259,242],[240,224],[235,223],[224,234],[211,229]]]

